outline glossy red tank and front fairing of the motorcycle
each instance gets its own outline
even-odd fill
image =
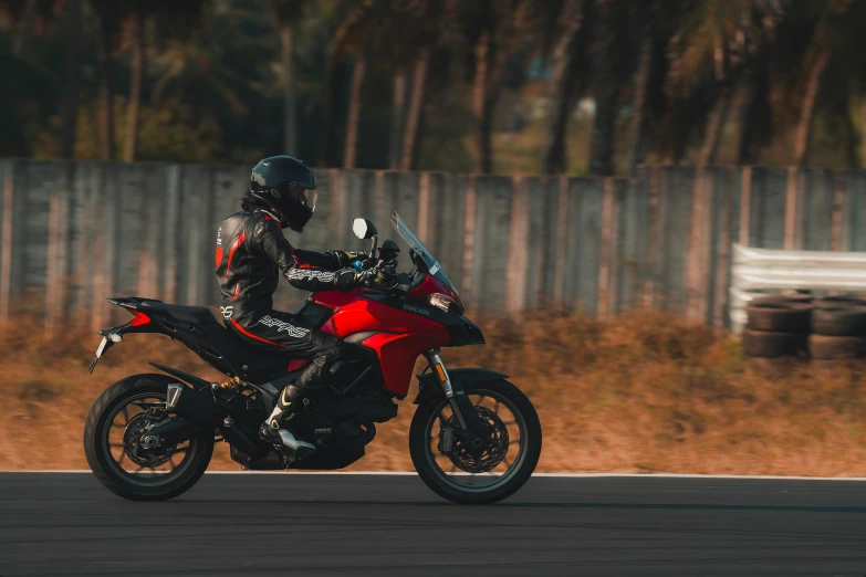
[[[431,293],[457,295],[435,277],[416,284],[406,295],[409,301],[422,301]],[[409,391],[415,360],[419,355],[450,340],[448,331],[435,321],[400,311],[363,296],[364,291],[313,293],[310,302],[331,308],[334,314],[322,331],[340,338],[355,333],[373,332],[362,345],[376,352],[385,387],[405,397]],[[296,366],[293,363],[293,368]]]

